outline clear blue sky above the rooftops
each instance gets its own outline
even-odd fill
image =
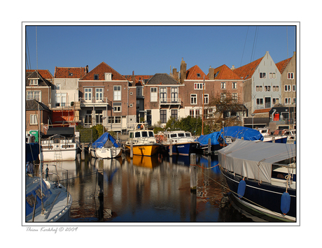
[[[132,71],[136,75],[170,73],[170,66],[179,71],[181,58],[186,61],[187,69],[197,65],[207,74],[209,66],[226,64],[237,68],[264,56],[266,51],[275,63],[292,57],[295,51],[295,26],[285,25],[289,23],[183,24],[43,26],[40,23],[36,27],[25,23],[26,68],[37,68],[36,30],[38,69],[48,69],[52,75],[55,66],[88,65],[92,70],[102,61],[122,75],[130,75]]]

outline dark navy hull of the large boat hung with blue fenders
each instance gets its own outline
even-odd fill
[[[228,187],[232,192],[237,193],[239,182],[243,180],[243,177],[239,175],[234,175],[221,168],[221,173],[225,176]],[[247,180],[246,189],[244,196],[239,199],[237,194],[232,194],[232,198],[235,199],[239,206],[244,208],[247,207],[248,212],[251,214],[258,215],[262,219],[267,219],[269,221],[290,221],[290,219],[296,218],[296,190],[288,189],[288,194],[290,194],[290,210],[286,214],[287,217],[283,217],[281,212],[281,196],[286,191],[284,187],[276,187],[272,184],[260,183],[255,180]],[[247,204],[244,204],[247,203]],[[253,205],[253,207],[249,207]],[[260,206],[261,210],[255,209],[255,207]],[[270,210],[268,213],[265,210]],[[274,213],[274,214],[273,214]]]

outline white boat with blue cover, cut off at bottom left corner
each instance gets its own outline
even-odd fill
[[[39,154],[38,143],[26,143],[25,150],[25,221],[69,221],[73,201],[71,194],[59,182],[52,182],[49,177],[43,179],[41,166],[38,170],[40,177],[35,175],[34,160]],[[45,170],[46,176],[49,174],[48,170]]]

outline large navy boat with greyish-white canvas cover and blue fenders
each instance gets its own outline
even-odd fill
[[[271,221],[296,221],[295,159],[294,144],[235,140],[218,151],[232,200]]]

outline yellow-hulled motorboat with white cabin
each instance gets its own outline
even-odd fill
[[[139,123],[133,131],[129,132],[129,138],[125,143],[127,152],[132,151],[134,155],[152,156],[158,152],[160,143],[157,143],[153,131],[146,130],[146,124]]]

